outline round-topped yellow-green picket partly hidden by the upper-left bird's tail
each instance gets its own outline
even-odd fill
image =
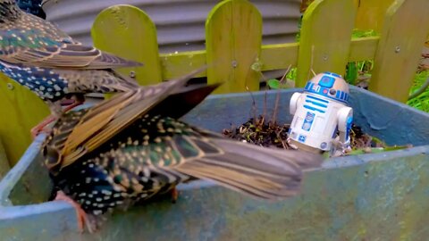
[[[91,29],[94,45],[143,67],[118,70],[135,76],[140,85],[162,81],[156,27],[147,14],[131,5],[114,5],[97,15]],[[133,71],[133,72],[131,72]]]

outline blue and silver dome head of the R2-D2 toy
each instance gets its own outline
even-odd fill
[[[307,81],[306,92],[325,96],[341,103],[349,103],[349,85],[341,75],[324,72]]]

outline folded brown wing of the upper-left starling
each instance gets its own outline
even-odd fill
[[[23,12],[21,20],[0,29],[0,60],[46,68],[112,69],[142,65],[82,46],[52,23]]]

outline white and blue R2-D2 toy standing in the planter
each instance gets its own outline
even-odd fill
[[[353,110],[348,106],[349,86],[341,75],[324,72],[307,82],[304,93],[290,98],[288,143],[312,153],[349,148]],[[337,135],[339,133],[339,135]]]

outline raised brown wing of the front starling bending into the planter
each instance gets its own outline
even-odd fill
[[[61,149],[62,166],[69,165],[79,159],[80,156],[104,144],[105,141],[114,137],[142,115],[153,110],[157,104],[164,100],[171,103],[169,96],[186,93],[183,91],[186,83],[202,69],[193,71],[181,79],[170,80],[156,86],[139,87],[118,94],[91,108],[81,118],[80,122],[69,130]],[[194,90],[192,87],[190,89]],[[206,92],[206,95],[208,94]],[[200,99],[202,100],[204,97],[201,96]]]

